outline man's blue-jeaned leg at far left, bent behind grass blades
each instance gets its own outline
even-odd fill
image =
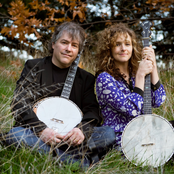
[[[22,146],[30,147],[31,149],[35,149],[40,153],[52,153],[52,151],[54,150],[54,152],[56,152],[56,155],[61,161],[66,161],[70,163],[81,163],[81,159],[74,158],[72,155],[67,155],[64,151],[58,148],[53,149],[51,146],[47,145],[40,138],[38,138],[32,130],[27,128],[12,128],[7,134],[6,143],[8,145],[15,145],[17,148],[20,148]],[[84,159],[82,166],[88,167],[89,160]]]

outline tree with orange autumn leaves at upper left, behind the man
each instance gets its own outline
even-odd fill
[[[54,26],[57,24],[77,18],[83,22],[85,19],[85,4],[80,0],[78,2],[75,0],[57,2],[34,0],[25,1],[25,3],[15,0],[10,2],[7,11],[8,13],[1,13],[7,19],[1,30],[1,34],[7,38],[7,42],[4,39],[1,44],[17,49],[30,47],[30,54],[35,52],[35,49],[32,49],[34,43],[37,40],[42,42],[50,38]],[[31,34],[34,34],[35,38],[29,37]]]

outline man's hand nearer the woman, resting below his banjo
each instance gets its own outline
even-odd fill
[[[85,139],[84,134],[79,128],[72,129],[63,139],[63,141],[66,141],[68,144],[77,146],[80,145]]]

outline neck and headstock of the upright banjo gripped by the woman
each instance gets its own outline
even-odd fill
[[[150,40],[150,27],[152,23],[149,21],[144,21],[141,23],[141,27],[143,28],[142,36],[143,36],[143,47],[149,47]],[[143,113],[144,114],[152,114],[152,106],[151,106],[151,75],[148,74],[145,77],[144,83],[144,104],[143,104]]]

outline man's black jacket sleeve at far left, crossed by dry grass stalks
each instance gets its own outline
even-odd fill
[[[36,77],[37,68],[33,68],[30,61],[27,61],[17,81],[11,102],[12,114],[16,121],[15,126],[30,127],[35,133],[46,128],[32,109],[36,98],[41,95],[37,90],[40,85],[37,83]]]

